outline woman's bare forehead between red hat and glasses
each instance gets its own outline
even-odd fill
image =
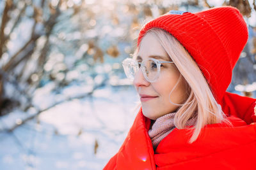
[[[156,35],[152,32],[145,34],[138,50],[138,59],[147,59],[154,56],[156,59],[170,60],[168,53],[164,50]]]

